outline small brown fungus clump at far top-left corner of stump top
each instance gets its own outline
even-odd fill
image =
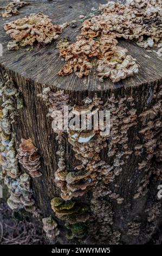
[[[6,7],[0,8],[2,9],[2,17],[11,17],[13,15],[19,14],[19,9],[24,7],[24,5],[27,5],[29,3],[23,2],[20,0],[13,0],[11,3],[9,3]]]

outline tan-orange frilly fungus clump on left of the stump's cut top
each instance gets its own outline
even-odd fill
[[[4,26],[7,34],[14,41],[9,42],[8,50],[18,50],[20,47],[34,44],[47,45],[59,38],[59,35],[67,26],[54,25],[47,15],[42,13],[30,14],[24,18],[11,21]]]

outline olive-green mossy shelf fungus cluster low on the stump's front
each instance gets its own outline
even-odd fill
[[[71,230],[68,239],[83,238],[87,233],[86,221],[89,219],[89,207],[73,200],[64,201],[60,197],[51,200],[51,208],[60,220],[66,222],[66,227]]]

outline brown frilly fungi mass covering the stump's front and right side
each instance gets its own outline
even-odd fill
[[[64,221],[66,227],[69,228],[69,224],[75,224],[76,233],[77,228],[80,230],[82,224],[84,229],[87,225],[87,233],[83,232],[85,234],[82,237],[83,239],[86,239],[86,234],[88,234],[87,237],[93,234],[92,239],[96,242],[99,234],[100,237],[103,237],[103,234],[107,234],[107,237],[111,237],[109,243],[120,243],[120,230],[113,228],[111,202],[116,200],[116,203],[122,204],[125,200],[118,193],[118,185],[115,184],[115,178],[127,168],[132,156],[136,157],[137,160],[134,166],[135,172],[141,173],[142,170],[144,173],[142,180],[137,183],[137,192],[133,196],[134,200],[146,196],[151,176],[155,181],[159,178],[161,179],[159,165],[161,160],[161,86],[151,87],[145,94],[142,109],[140,110],[135,108],[137,98],[135,95],[133,96],[133,93],[128,95],[125,92],[122,97],[112,94],[107,98],[106,102],[101,101],[101,98],[95,94],[93,99],[86,97],[81,106],[72,106],[69,95],[65,94],[63,90],[54,93],[51,92],[50,88],[44,88],[43,93],[38,94],[49,107],[48,115],[53,120],[51,126],[57,135],[56,140],[59,147],[57,151],[59,156],[58,169],[55,172],[54,182],[60,188],[61,198],[54,198],[51,201],[51,206],[56,217]],[[72,116],[76,113],[80,115],[81,111],[95,113],[99,110],[109,110],[111,113],[110,134],[101,136],[100,130],[68,129],[65,132],[59,128],[57,129],[56,124],[59,124],[59,121],[61,123],[63,121],[62,114],[65,106],[68,106]],[[66,117],[64,118],[66,119]],[[130,130],[132,127],[137,127],[138,134],[135,136],[135,143],[130,147]],[[76,159],[80,161],[80,165],[76,166],[73,171],[69,171],[66,166],[66,148],[64,148],[63,142],[65,133],[67,133],[68,142],[72,145]],[[108,157],[102,160],[101,154],[105,149]],[[109,186],[111,183],[114,185],[114,191]],[[78,218],[77,211],[73,211],[73,203],[81,207],[81,197],[89,191],[89,188],[93,192],[93,197],[89,213],[88,215],[86,214],[88,218],[84,218],[83,222],[83,212],[81,211],[81,219]],[[109,202],[107,208],[105,208],[106,202],[103,199],[105,196]],[[79,202],[77,202],[77,198],[79,198]],[[57,208],[57,206],[60,207]],[[153,213],[154,210],[150,212],[150,215],[153,215],[154,222],[159,216],[159,207],[159,202],[157,202],[157,206],[155,206],[158,209],[156,215]],[[147,208],[146,212],[148,213]],[[71,219],[75,220],[76,223],[70,223]],[[150,220],[151,218],[148,216],[147,219]],[[98,225],[94,225],[94,222],[98,223]],[[154,222],[152,219],[150,222],[148,221],[148,230],[151,227],[155,229]],[[128,222],[127,235],[139,235],[140,226],[139,216],[135,216],[131,222]],[[98,229],[99,227],[101,227],[100,230]],[[73,230],[72,226],[70,230]],[[74,237],[81,239],[81,236],[73,234],[67,237],[68,239]],[[93,240],[90,241],[92,242]],[[102,242],[104,243],[104,241],[103,239]]]

